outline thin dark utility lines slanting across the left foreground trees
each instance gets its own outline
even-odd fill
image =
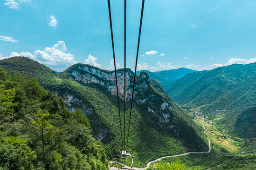
[[[0,109],[0,110],[1,110],[1,109]],[[12,115],[12,116],[14,116],[14,117],[16,117],[16,118],[18,118],[18,119],[21,119],[21,118],[19,118],[18,116],[15,116],[15,115],[13,115],[13,114],[11,114],[11,113],[5,111],[5,110],[1,110],[1,111],[5,112],[5,113],[8,113],[9,115]],[[7,117],[7,118],[9,118],[9,119],[13,119],[13,118],[10,118],[9,116],[4,115],[4,114],[1,114],[1,113],[0,113],[0,115],[2,115],[2,116],[4,116],[4,117]],[[23,122],[21,122],[21,121],[19,121],[19,120],[17,120],[17,119],[13,119],[13,120],[18,121],[19,123],[21,123],[21,124],[23,124],[23,125],[26,125],[26,126],[28,126],[28,127],[32,127],[32,126],[27,125],[26,123],[23,123]],[[27,120],[24,120],[24,119],[21,119],[21,120],[23,120],[23,121],[25,121],[25,122],[27,122],[27,123],[29,123],[29,124],[31,124],[31,125],[34,125],[34,126],[36,126],[36,127],[39,127],[39,126],[37,126],[37,125],[35,125],[35,124],[33,124],[33,123],[27,121]],[[70,140],[68,140],[68,139],[66,139],[66,138],[64,138],[64,137],[62,137],[62,136],[60,136],[60,135],[57,135],[57,134],[55,134],[55,133],[53,133],[53,132],[51,132],[51,131],[49,131],[49,130],[47,130],[47,129],[44,129],[44,128],[42,128],[42,127],[39,127],[40,129],[42,129],[42,130],[40,130],[40,129],[37,129],[36,127],[32,127],[32,128],[34,128],[34,129],[36,129],[36,130],[38,130],[38,131],[40,131],[40,132],[43,132],[43,133],[45,133],[45,134],[47,134],[47,135],[50,135],[50,136],[53,136],[53,137],[55,137],[55,138],[61,139],[61,140],[65,141],[65,142],[67,142],[67,143],[70,143],[70,144],[74,145],[74,146],[77,146],[77,147],[80,147],[80,148],[82,148],[82,149],[86,149],[86,150],[88,150],[88,151],[90,151],[90,152],[95,153],[94,151],[91,151],[90,149],[87,149],[86,147],[84,147],[84,146],[82,146],[82,145],[80,145],[80,144],[77,144],[77,143],[75,143],[75,142],[73,142],[73,141],[70,141]],[[50,132],[51,134],[45,132],[44,130],[47,131],[47,132]],[[56,136],[54,136],[54,135],[52,135],[52,134],[54,134],[54,135],[56,135]],[[57,137],[57,136],[58,136],[58,137]]]

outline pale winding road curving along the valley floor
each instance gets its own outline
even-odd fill
[[[203,119],[203,120],[204,120],[204,119]],[[203,124],[203,121],[202,121],[202,124]],[[203,125],[203,128],[205,128],[204,125]],[[206,132],[206,128],[205,128],[204,133],[205,133],[205,132]],[[158,159],[156,159],[156,160],[154,160],[154,161],[148,162],[148,163],[146,164],[146,167],[144,167],[144,168],[133,167],[132,169],[133,169],[133,170],[146,170],[146,169],[149,167],[149,165],[150,165],[151,163],[153,163],[153,162],[155,162],[155,161],[160,161],[161,159],[164,159],[164,158],[170,158],[170,157],[176,157],[176,156],[183,156],[183,155],[191,154],[191,153],[210,153],[210,139],[209,139],[208,137],[206,137],[206,138],[209,140],[209,151],[207,151],[207,152],[189,152],[189,153],[182,153],[182,154],[178,154],[178,155],[164,156],[164,157],[158,158]],[[112,161],[110,161],[110,162],[112,162]],[[124,165],[124,164],[122,164],[122,165]],[[131,167],[124,165],[124,168],[130,169]]]

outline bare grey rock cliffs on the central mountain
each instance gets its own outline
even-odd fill
[[[85,64],[76,64],[65,72],[78,82],[84,84],[95,83],[102,85],[112,95],[117,96],[116,78],[114,71],[102,70]],[[119,98],[124,100],[124,69],[117,70],[117,77]],[[131,100],[133,80],[134,72],[128,68],[126,70],[126,102]],[[74,99],[71,94],[66,94],[63,96],[63,98],[67,106],[74,106],[74,103],[82,103],[82,101]],[[158,120],[157,124],[159,127],[175,127],[175,125],[171,125],[169,123],[173,111],[171,104],[159,93],[155,92],[155,90],[150,85],[149,76],[146,74],[146,72],[141,72],[140,75],[137,75],[136,77],[134,102],[136,102],[138,105],[148,105],[148,113]],[[150,103],[154,103],[154,106],[151,106]],[[69,109],[73,110],[73,108]],[[92,113],[92,109],[86,107],[86,105],[82,105],[81,109],[84,114]],[[105,130],[101,130],[100,133],[104,134],[104,132]],[[104,138],[104,135],[102,137]],[[98,138],[101,140],[102,137]]]

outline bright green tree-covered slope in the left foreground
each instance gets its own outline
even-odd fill
[[[88,118],[79,109],[68,111],[64,100],[41,87],[36,78],[11,76],[0,68],[0,109],[38,126],[0,111],[0,170],[108,169]],[[54,134],[44,130],[42,135],[40,127]]]

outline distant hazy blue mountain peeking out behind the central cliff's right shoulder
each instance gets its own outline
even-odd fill
[[[155,72],[150,72],[148,70],[141,70],[141,71],[137,71],[137,73],[139,74],[142,71],[146,72],[146,74],[151,79],[154,79],[161,85],[170,84],[174,80],[177,80],[183,76],[186,76],[186,74],[188,74],[188,73],[197,72],[196,70],[192,70],[192,69],[188,69],[188,68],[177,68],[177,69],[155,71]]]

